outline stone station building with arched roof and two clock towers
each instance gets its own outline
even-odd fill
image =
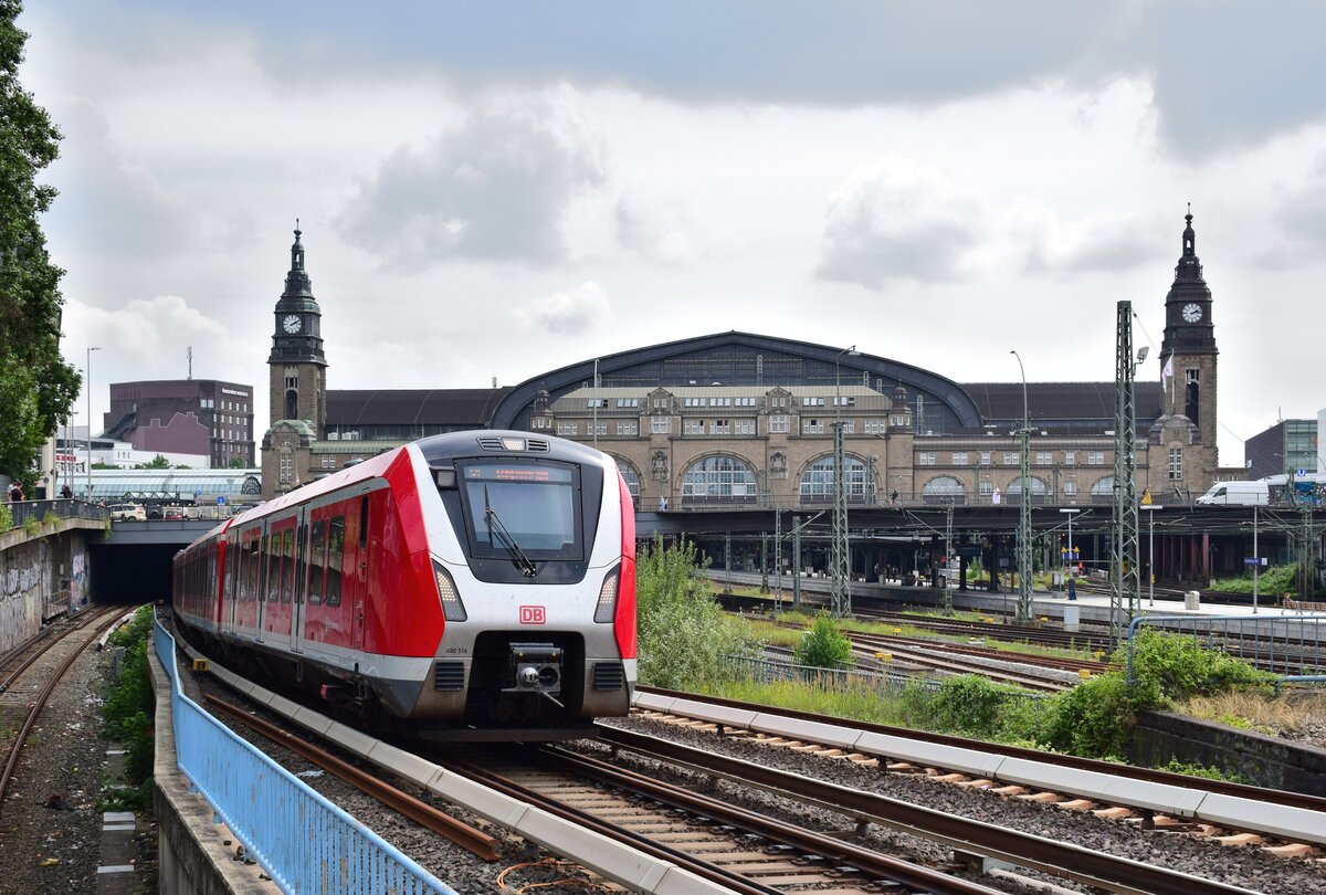
[[[1245,477],[1216,457],[1213,301],[1185,217],[1156,381],[1136,382],[1136,491],[1191,500]],[[826,504],[842,422],[854,504],[1110,503],[1113,382],[1026,383],[1030,476],[1021,480],[1021,383],[957,383],[845,349],[716,333],[581,361],[513,387],[328,390],[321,309],[300,231],[274,308],[263,492],[284,493],[407,440],[517,428],[593,443],[642,509]],[[861,350],[855,350],[859,347]]]

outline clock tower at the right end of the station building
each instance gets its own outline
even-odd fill
[[[1211,320],[1211,288],[1201,277],[1192,207],[1184,217],[1183,255],[1174,269],[1174,285],[1164,300],[1164,338],[1160,342],[1160,385],[1166,415],[1187,416],[1203,447],[1216,448],[1216,328]]]

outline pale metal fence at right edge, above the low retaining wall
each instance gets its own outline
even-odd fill
[[[1321,615],[1143,615],[1128,626],[1128,683],[1140,626],[1191,636],[1208,650],[1246,659],[1284,680],[1326,675],[1326,614]]]

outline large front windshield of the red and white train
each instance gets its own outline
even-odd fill
[[[581,560],[579,471],[549,463],[456,464],[473,554]]]

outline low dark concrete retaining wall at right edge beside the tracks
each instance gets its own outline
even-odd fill
[[[1326,750],[1181,715],[1147,712],[1138,719],[1130,758],[1144,766],[1177,758],[1240,774],[1257,786],[1326,796]]]

